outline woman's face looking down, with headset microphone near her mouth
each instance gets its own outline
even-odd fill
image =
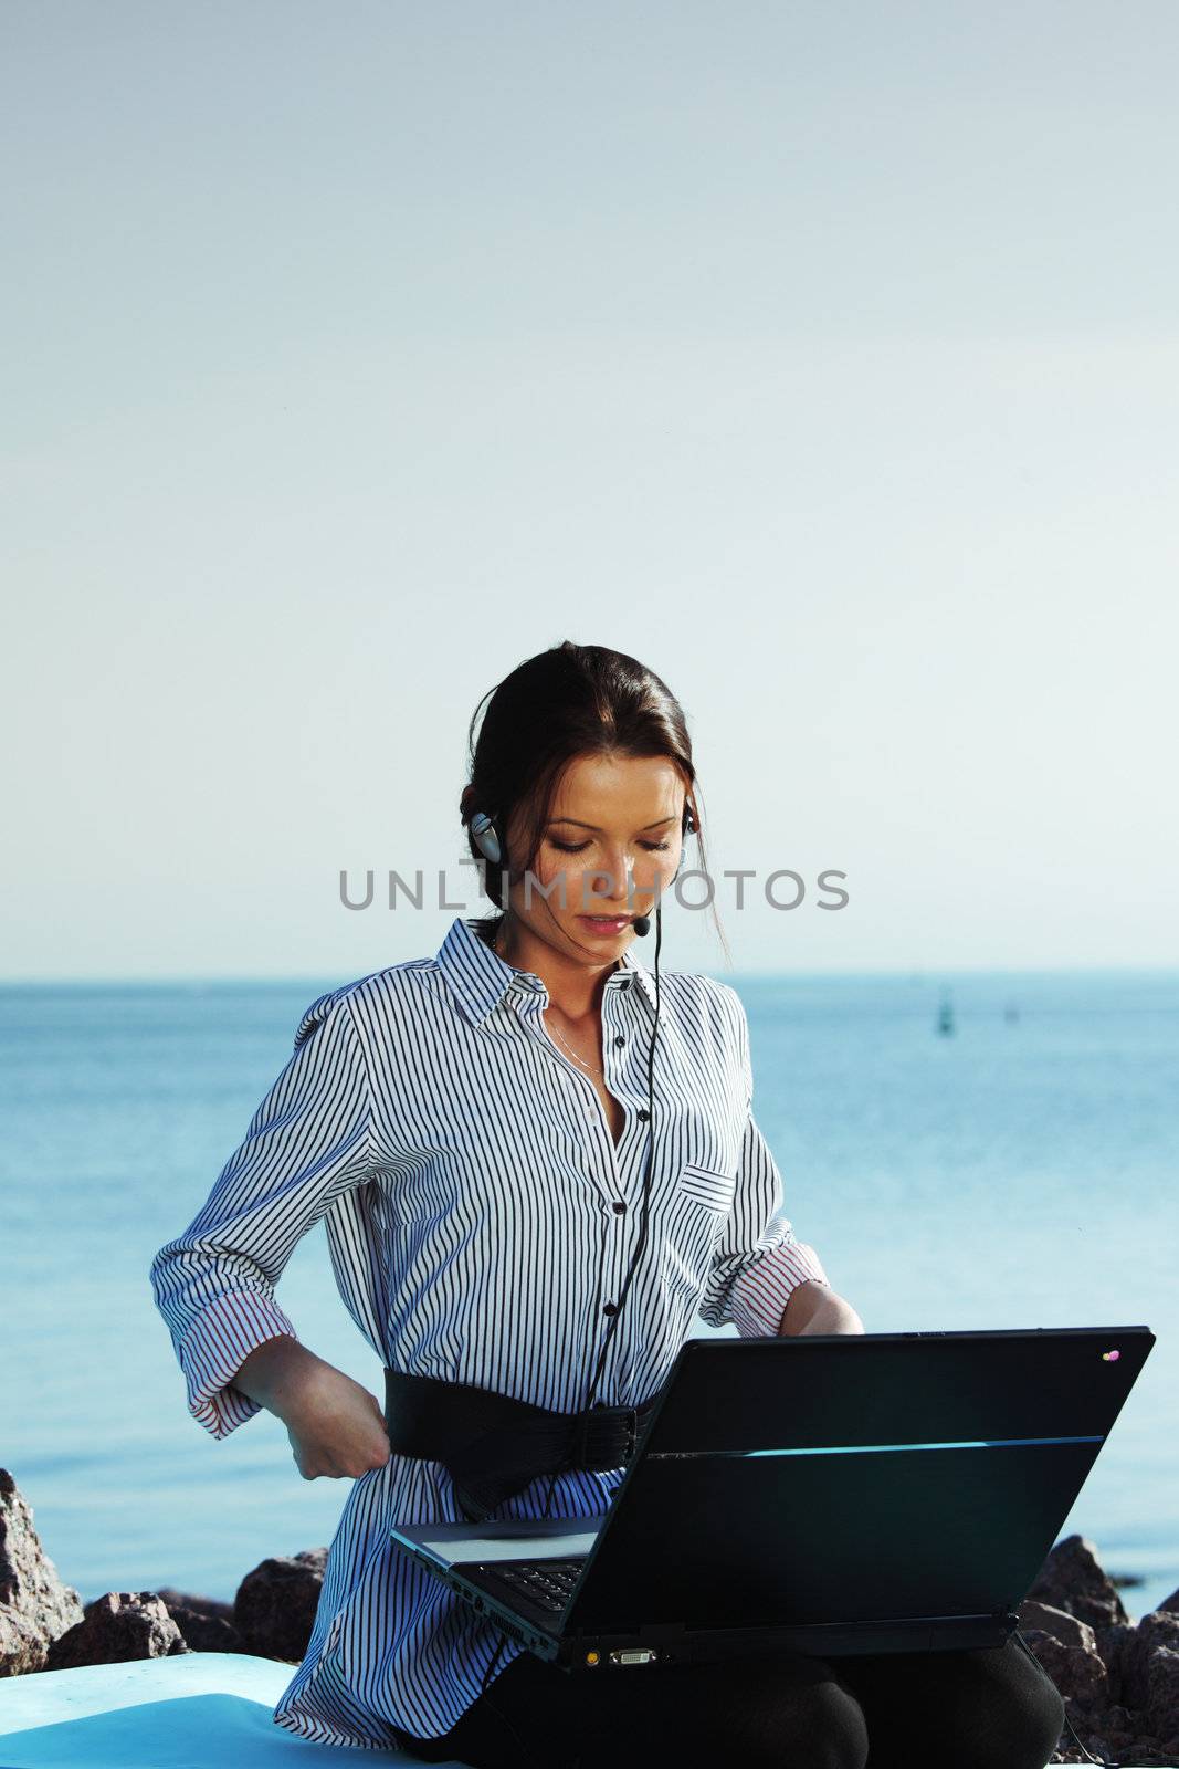
[[[576,955],[619,955],[636,915],[654,909],[679,865],[684,780],[661,755],[580,755],[557,789],[532,863],[513,879],[513,913],[537,938]],[[521,831],[507,833],[509,853]],[[564,877],[564,890],[562,890]]]

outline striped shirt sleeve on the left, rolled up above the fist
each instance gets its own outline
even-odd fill
[[[260,1412],[232,1376],[255,1346],[297,1339],[274,1288],[299,1240],[371,1171],[371,1090],[346,996],[320,996],[295,1049],[184,1233],[152,1260],[187,1406],[216,1438]]]

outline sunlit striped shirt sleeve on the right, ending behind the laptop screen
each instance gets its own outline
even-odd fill
[[[781,1327],[790,1291],[808,1279],[827,1286],[831,1279],[815,1249],[797,1238],[781,1210],[781,1175],[753,1116],[753,1065],[744,1005],[735,989],[725,989],[735,1014],[744,1132],[734,1201],[712,1254],[700,1318],[709,1327],[732,1321],[742,1339],[772,1337]]]

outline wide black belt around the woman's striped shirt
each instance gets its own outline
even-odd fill
[[[385,1364],[385,1429],[401,1456],[440,1461],[470,1523],[483,1523],[541,1474],[622,1468],[659,1394],[642,1406],[557,1413],[467,1382],[407,1376]]]

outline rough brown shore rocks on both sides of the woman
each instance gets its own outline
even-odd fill
[[[233,1603],[163,1587],[83,1604],[64,1585],[16,1481],[0,1468],[0,1677],[173,1652],[253,1652],[300,1663],[327,1548],[262,1560]],[[1020,1633],[1099,1762],[1179,1769],[1179,1590],[1131,1622],[1082,1535],[1057,1543],[1020,1608]],[[1089,1758],[1068,1728],[1052,1762]]]

